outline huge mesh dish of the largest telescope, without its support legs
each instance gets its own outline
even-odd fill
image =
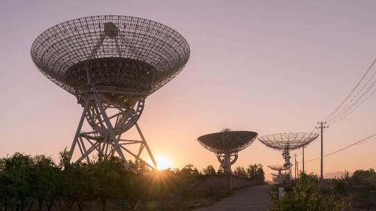
[[[33,43],[31,57],[44,76],[71,94],[95,87],[124,104],[133,103],[133,96],[148,96],[179,74],[189,59],[189,45],[158,22],[99,15],[47,29]]]

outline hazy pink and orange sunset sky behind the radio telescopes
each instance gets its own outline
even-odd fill
[[[376,57],[375,1],[0,2],[0,156],[54,158],[70,146],[82,112],[73,95],[37,70],[31,44],[44,30],[91,15],[144,17],[171,26],[191,48],[183,71],[146,99],[139,119],[156,156],[173,167],[216,157],[196,141],[230,127],[259,135],[311,132]],[[325,130],[330,153],[376,132],[376,96]],[[130,135],[133,131],[130,131]],[[306,160],[320,155],[317,140]],[[376,140],[325,158],[325,172],[376,168]],[[300,151],[298,151],[300,153]],[[301,167],[301,156],[298,156]],[[233,167],[282,164],[255,141]],[[319,160],[307,171],[319,173]]]

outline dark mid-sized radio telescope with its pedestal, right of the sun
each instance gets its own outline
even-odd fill
[[[246,149],[257,137],[252,131],[232,131],[225,128],[219,133],[210,133],[198,137],[198,142],[205,149],[216,153],[221,167],[231,174],[231,165],[237,161],[238,152]]]

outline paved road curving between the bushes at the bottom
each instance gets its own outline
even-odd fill
[[[271,205],[268,199],[270,189],[270,185],[245,187],[210,207],[196,211],[265,211]]]

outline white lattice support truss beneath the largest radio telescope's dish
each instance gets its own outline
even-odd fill
[[[109,117],[108,115],[110,114],[106,111],[109,108],[117,110],[116,114]],[[129,164],[124,153],[126,152],[135,158],[135,162],[144,162],[151,169],[155,169],[157,164],[136,122],[138,117],[135,121],[133,119],[135,115],[131,117],[132,113],[135,113],[133,108],[127,110],[119,108],[117,105],[103,104],[95,92],[87,94],[83,103],[83,115],[81,115],[76,135],[69,151],[69,160],[72,159],[77,145],[80,153],[80,157],[76,160],[77,162],[82,160],[91,162],[89,155],[94,153],[99,157],[118,155],[122,160],[126,161],[126,167],[128,167]],[[129,123],[132,120],[135,121],[133,125],[137,128],[141,140],[121,139],[121,134],[130,128]],[[85,121],[91,126],[92,130],[89,132],[82,131]],[[127,124],[128,126],[126,126]],[[139,144],[138,151],[135,153],[131,151],[128,148],[130,144]],[[146,149],[154,166],[140,158],[144,149]]]

